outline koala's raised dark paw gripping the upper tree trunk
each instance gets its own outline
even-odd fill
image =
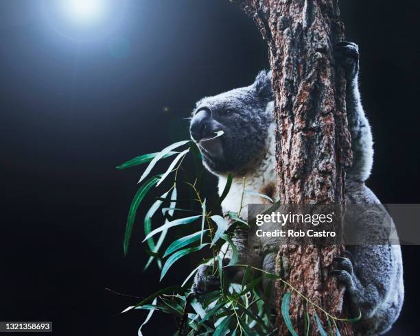
[[[353,80],[359,71],[359,47],[352,42],[340,42],[334,47],[334,57],[346,71],[347,80]]]

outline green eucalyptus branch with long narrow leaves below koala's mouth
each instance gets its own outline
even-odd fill
[[[217,136],[222,136],[222,133],[219,132],[215,135],[215,137]],[[180,152],[174,152],[175,149],[183,146],[187,146],[187,148],[180,150]],[[183,169],[183,163],[188,154],[192,154],[196,165],[196,173],[192,179],[188,178]],[[175,158],[164,173],[157,174],[152,176],[152,178],[145,180],[160,160],[170,158],[171,156],[175,156]],[[142,243],[147,245],[147,248],[145,245],[143,245],[143,247],[145,248],[145,252],[149,254],[148,263],[145,265],[145,269],[152,264],[152,261],[156,261],[159,269],[161,269],[160,280],[162,280],[167,272],[169,272],[172,265],[184,256],[209,248],[212,257],[202,261],[202,263],[185,278],[182,285],[165,287],[123,311],[124,313],[133,309],[149,311],[145,321],[139,327],[139,335],[142,335],[141,329],[151,319],[154,311],[162,311],[178,317],[180,320],[180,328],[176,333],[178,336],[183,333],[184,329],[187,331],[188,335],[272,335],[277,328],[272,324],[273,318],[269,307],[269,300],[266,295],[266,293],[270,292],[272,285],[269,282],[268,287],[263,289],[262,283],[264,278],[280,281],[291,290],[283,296],[281,313],[285,320],[285,324],[288,326],[292,335],[297,335],[293,329],[289,315],[289,305],[292,293],[301,296],[306,303],[305,335],[310,331],[310,315],[307,311],[308,306],[313,308],[314,319],[321,335],[327,335],[327,333],[325,333],[323,326],[319,322],[318,315],[316,314],[317,310],[326,315],[329,323],[329,331],[334,334],[335,329],[336,335],[340,335],[336,322],[357,322],[360,320],[360,316],[355,319],[340,319],[334,317],[325,311],[325,309],[309,300],[303,293],[298,291],[287,281],[283,280],[280,276],[271,274],[257,267],[237,263],[239,256],[238,250],[233,243],[233,232],[235,228],[248,227],[248,222],[240,218],[240,213],[244,207],[244,194],[253,192],[245,190],[246,181],[244,179],[239,213],[229,212],[229,221],[224,217],[217,215],[217,213],[215,214],[215,211],[218,211],[218,207],[229,194],[229,190],[233,183],[233,177],[231,174],[227,176],[226,185],[220,197],[218,197],[218,200],[216,200],[214,204],[210,204],[209,206],[209,204],[207,204],[207,199],[202,197],[200,193],[200,182],[204,168],[202,166],[200,151],[194,141],[179,141],[165,147],[161,152],[137,156],[136,158],[119,165],[117,169],[121,170],[137,167],[145,163],[148,163],[148,166],[139,179],[139,182],[145,182],[143,182],[135,194],[135,197],[133,197],[128,211],[123,244],[124,254],[128,253],[137,211],[139,206],[143,204],[145,196],[150,193],[153,189],[152,187],[162,187],[163,182],[168,180],[168,177],[173,174],[170,188],[161,194],[160,197],[156,197],[156,200],[148,209],[143,220],[144,239]],[[194,194],[194,201],[199,208],[187,209],[177,206],[178,202],[184,200],[178,197],[177,190],[177,180],[180,177],[181,171],[185,176],[183,182],[185,182]],[[265,195],[260,196],[264,197]],[[274,203],[271,199],[270,201]],[[276,206],[276,204],[273,204],[273,206]],[[161,209],[160,212],[159,209]],[[152,220],[155,221],[156,214],[159,213],[163,216],[164,221],[161,226],[154,228]],[[189,213],[189,216],[178,216],[178,218],[175,218],[175,215],[179,215],[180,213]],[[170,242],[164,252],[161,252],[161,248],[167,237],[167,232],[171,228],[194,228],[197,222],[200,222],[200,226],[198,226],[196,232],[187,233]],[[159,238],[155,241],[155,238],[158,235]],[[222,246],[224,246],[224,253],[226,253],[227,250],[231,251],[229,265],[223,265],[222,261],[224,254],[221,252]],[[164,259],[166,259],[165,263],[163,263]],[[218,274],[220,278],[220,289],[196,296],[190,291],[191,279],[201,265],[212,266],[212,274]],[[223,269],[232,266],[246,267],[242,284],[229,283],[229,279],[226,279],[224,276]],[[257,274],[262,274],[262,276],[257,276]],[[332,321],[332,324],[330,320]]]

